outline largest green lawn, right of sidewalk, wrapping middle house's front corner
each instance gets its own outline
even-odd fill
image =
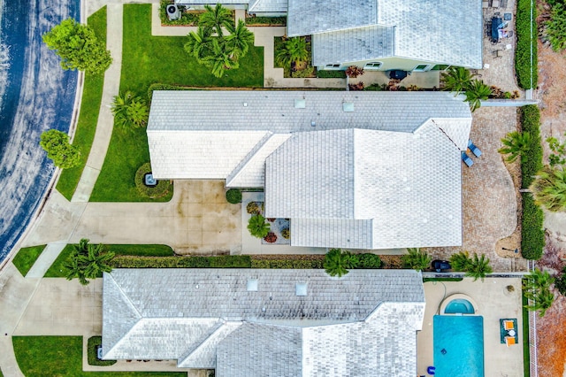
[[[264,83],[264,49],[252,47],[240,68],[217,79],[183,50],[186,37],[151,36],[151,5],[124,6],[124,39],[120,91],[147,97],[149,85],[162,83],[186,87],[255,87]],[[136,170],[149,161],[145,129],[125,132],[114,127],[92,202],[166,202],[168,196],[149,199],[134,185]]]

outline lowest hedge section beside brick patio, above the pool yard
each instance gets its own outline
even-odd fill
[[[545,247],[543,227],[544,213],[534,204],[530,193],[523,194],[523,222],[521,228],[521,252],[523,258],[538,260]]]

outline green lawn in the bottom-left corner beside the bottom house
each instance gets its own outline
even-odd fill
[[[19,369],[26,376],[187,376],[181,372],[83,372],[81,336],[14,336],[12,342]]]

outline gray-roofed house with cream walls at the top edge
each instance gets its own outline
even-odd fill
[[[175,0],[191,9],[216,0]],[[287,16],[287,36],[312,38],[318,70],[481,68],[483,16],[470,0],[225,0],[256,16]]]

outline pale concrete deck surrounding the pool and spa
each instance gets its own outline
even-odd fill
[[[508,286],[515,290],[509,292]],[[446,290],[445,290],[446,289]],[[429,281],[424,283],[426,308],[423,330],[417,333],[417,375],[428,376],[426,368],[433,363],[432,318],[447,296],[464,294],[478,305],[477,315],[484,317],[484,365],[486,376],[523,376],[523,318],[521,280],[518,278],[486,278],[482,281]],[[507,347],[501,344],[502,318],[516,318],[519,342]]]

